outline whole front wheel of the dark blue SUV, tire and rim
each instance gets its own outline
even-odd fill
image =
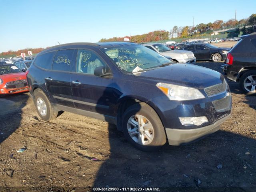
[[[141,122],[141,126],[138,122]],[[146,103],[136,103],[126,109],[122,128],[126,139],[139,150],[158,150],[166,143],[164,126],[156,112]]]

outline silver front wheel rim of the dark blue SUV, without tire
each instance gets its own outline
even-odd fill
[[[154,128],[151,122],[142,115],[133,115],[127,122],[130,137],[140,145],[148,145],[154,139]]]

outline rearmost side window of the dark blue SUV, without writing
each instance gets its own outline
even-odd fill
[[[36,57],[34,64],[38,67],[51,70],[54,54],[55,54],[55,51],[39,55]]]

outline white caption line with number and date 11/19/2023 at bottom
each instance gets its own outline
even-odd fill
[[[160,191],[159,188],[155,187],[94,187],[93,192],[98,191]]]

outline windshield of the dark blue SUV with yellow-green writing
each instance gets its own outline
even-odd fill
[[[146,70],[171,62],[157,52],[136,44],[117,48],[104,48],[102,51],[126,74],[131,73],[136,67]]]

